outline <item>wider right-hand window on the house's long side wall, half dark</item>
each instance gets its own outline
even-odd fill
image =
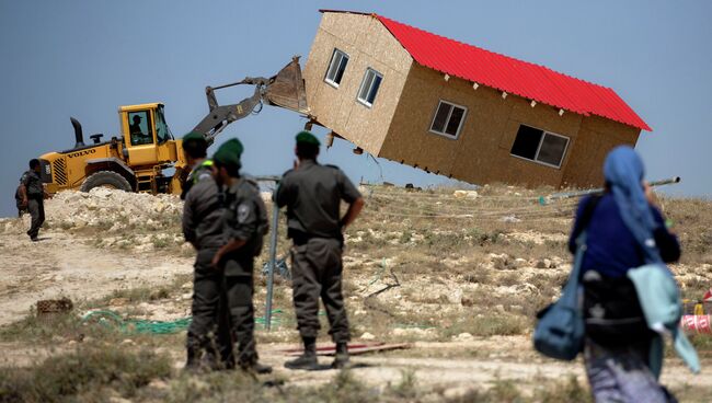
[[[569,137],[521,125],[512,146],[512,154],[560,168],[567,146]]]

